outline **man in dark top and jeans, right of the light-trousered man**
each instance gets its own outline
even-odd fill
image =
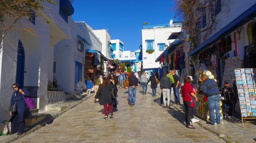
[[[180,102],[180,77],[175,74],[175,70],[171,71],[171,75],[173,76],[174,79],[174,84],[173,84],[173,93],[174,93],[174,102],[178,105],[181,105]]]

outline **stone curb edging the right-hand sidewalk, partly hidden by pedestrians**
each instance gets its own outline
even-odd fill
[[[156,93],[158,96],[160,96],[158,93]],[[161,96],[160,96],[161,97]],[[171,106],[173,106],[172,104],[170,104]],[[182,114],[185,114],[185,112],[183,112],[183,110],[180,110],[179,108],[177,108],[176,106],[173,106],[177,111],[181,112]],[[196,122],[197,124],[199,124],[203,129],[208,130],[214,134],[216,134],[218,137],[220,137],[223,141],[225,142],[230,142],[230,143],[236,143],[236,141],[232,140],[229,136],[223,134],[221,131],[216,131],[216,130],[212,130],[209,126],[207,126],[206,124],[204,124],[203,122],[199,121]]]

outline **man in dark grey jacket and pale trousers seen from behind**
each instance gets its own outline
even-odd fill
[[[168,108],[169,107],[169,103],[170,103],[170,89],[172,87],[172,82],[171,82],[170,78],[168,78],[166,75],[167,74],[164,73],[163,77],[160,80],[160,88],[162,89],[164,108]],[[168,97],[167,106],[166,106],[165,96]]]

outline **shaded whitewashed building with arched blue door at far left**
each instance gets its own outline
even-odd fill
[[[69,39],[71,3],[53,0],[57,5],[43,4],[48,11],[38,11],[34,17],[20,20],[17,25],[30,28],[29,32],[10,31],[0,44],[0,120],[9,118],[12,85],[30,88],[36,108],[45,110],[47,84],[53,81],[54,46]],[[48,22],[46,22],[48,21]],[[22,27],[20,27],[22,28]]]

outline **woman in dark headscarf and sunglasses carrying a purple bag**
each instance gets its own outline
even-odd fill
[[[18,132],[17,135],[21,135],[23,133],[24,124],[25,124],[25,118],[32,116],[31,112],[27,108],[26,102],[23,98],[23,96],[29,97],[29,93],[26,89],[21,89],[19,83],[13,84],[13,96],[11,99],[11,105],[10,105],[10,122],[12,123],[12,131],[11,134],[14,134]],[[12,106],[15,104],[16,100],[16,111],[12,112]]]

